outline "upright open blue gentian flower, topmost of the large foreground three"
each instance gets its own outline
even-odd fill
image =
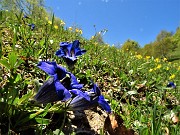
[[[72,66],[76,63],[77,57],[86,52],[86,50],[80,49],[79,44],[79,40],[75,40],[72,43],[61,42],[60,49],[56,52],[56,55],[64,58],[68,66]]]

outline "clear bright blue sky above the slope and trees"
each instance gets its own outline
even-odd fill
[[[45,5],[87,39],[107,29],[103,40],[110,45],[131,39],[144,46],[162,30],[180,27],[180,0],[45,0]]]

